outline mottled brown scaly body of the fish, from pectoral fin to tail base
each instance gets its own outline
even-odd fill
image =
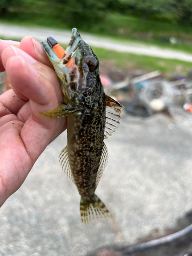
[[[104,94],[101,105],[101,108],[91,116],[68,116],[69,162],[79,194],[84,202],[90,202],[96,189],[96,177],[104,139]]]

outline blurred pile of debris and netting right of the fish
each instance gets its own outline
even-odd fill
[[[173,75],[166,79],[160,71],[154,71],[127,74],[117,82],[105,77],[102,82],[106,94],[121,102],[127,114],[149,117],[162,112],[183,124],[192,122],[192,71],[186,77]]]

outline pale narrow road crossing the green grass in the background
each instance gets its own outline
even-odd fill
[[[78,28],[77,28],[78,29]],[[86,33],[81,33],[81,37],[90,46],[109,49],[117,52],[128,52],[138,55],[154,56],[166,59],[178,59],[192,62],[192,54],[174,51],[170,49],[161,49],[155,46],[147,46],[136,42],[119,42],[109,38],[98,37]],[[37,40],[46,40],[48,36],[53,36],[59,43],[69,44],[71,31],[36,28],[36,27],[20,27],[0,23],[0,38],[14,38],[20,40],[24,36],[32,35]]]

